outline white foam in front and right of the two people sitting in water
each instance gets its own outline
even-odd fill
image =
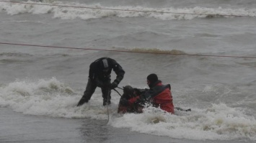
[[[193,109],[184,115],[171,115],[154,108],[143,114],[125,114],[115,118],[112,126],[130,128],[132,131],[185,139],[238,139],[255,140],[256,122],[239,109],[224,103],[213,104],[209,109]]]

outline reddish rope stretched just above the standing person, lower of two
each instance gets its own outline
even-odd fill
[[[250,56],[233,56],[233,55],[198,55],[198,54],[172,54],[164,52],[141,52],[141,51],[128,51],[128,50],[103,50],[103,49],[93,49],[93,48],[81,48],[81,47],[61,47],[61,46],[46,46],[46,45],[29,45],[29,44],[19,44],[19,43],[9,43],[0,42],[0,45],[19,45],[19,46],[30,46],[30,47],[50,47],[50,48],[61,48],[61,49],[74,49],[74,50],[97,50],[97,51],[108,51],[108,52],[135,52],[144,54],[161,54],[161,55],[182,55],[182,56],[198,56],[198,57],[237,57],[237,58],[251,58],[256,59],[256,57]]]

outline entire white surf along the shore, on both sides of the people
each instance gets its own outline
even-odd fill
[[[112,104],[102,106],[100,92],[89,103],[76,107],[81,96],[56,78],[37,81],[17,80],[0,88],[0,106],[12,108],[23,114],[63,118],[89,118],[106,120],[109,124],[132,131],[168,136],[178,139],[237,139],[256,140],[256,120],[241,109],[224,103],[213,104],[208,109],[176,111],[175,115],[148,107],[143,114],[117,114],[119,96],[113,93]]]

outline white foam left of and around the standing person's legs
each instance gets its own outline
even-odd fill
[[[107,119],[107,109],[102,106],[101,94],[96,92],[89,103],[84,104],[82,108],[76,107],[81,98],[80,93],[74,93],[72,88],[56,78],[38,81],[17,80],[7,86],[1,86],[0,93],[0,106],[11,107],[23,114]],[[113,104],[110,106],[110,112],[111,108],[117,108],[117,103]]]

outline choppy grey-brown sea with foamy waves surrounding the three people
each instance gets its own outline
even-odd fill
[[[0,1],[0,106],[1,114],[12,115],[1,117],[2,129],[10,119],[24,121],[25,116],[31,123],[18,131],[32,132],[37,121],[58,120],[71,126],[74,132],[65,132],[71,139],[87,142],[98,134],[89,126],[100,123],[116,134],[146,134],[141,142],[151,137],[162,137],[162,142],[255,142],[254,1],[21,2],[29,4]],[[163,83],[171,83],[175,106],[192,111],[170,115],[149,108],[144,114],[120,115],[118,93],[112,91],[107,108],[100,89],[89,103],[76,107],[89,64],[103,56],[123,66],[120,87],[147,88],[146,76],[156,73]],[[81,124],[84,134],[91,135],[79,134]],[[17,129],[10,128],[1,138],[14,142]],[[22,134],[17,140],[30,139]],[[38,134],[32,134],[37,141],[53,138]],[[100,137],[95,142],[127,139]],[[139,138],[131,137],[135,142]]]

